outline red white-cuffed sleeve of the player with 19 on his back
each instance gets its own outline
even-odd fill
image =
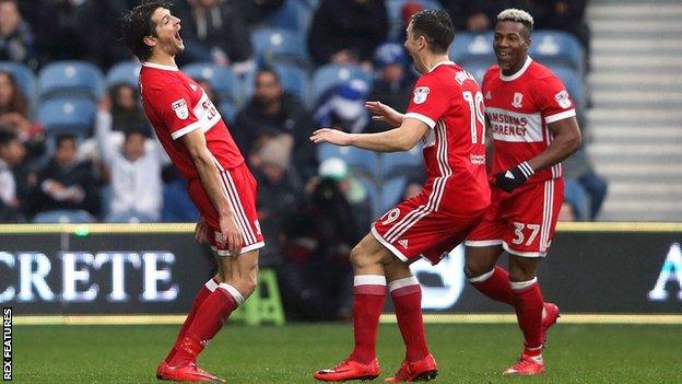
[[[411,117],[426,124],[430,128],[445,115],[450,106],[450,95],[446,86],[438,83],[434,75],[421,77],[414,85],[412,98],[404,117]]]

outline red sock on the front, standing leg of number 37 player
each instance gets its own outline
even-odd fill
[[[538,278],[529,281],[510,282],[514,291],[514,309],[519,327],[526,340],[524,353],[528,356],[542,354],[542,310],[544,302]]]

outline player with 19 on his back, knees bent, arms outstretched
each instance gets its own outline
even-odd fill
[[[424,335],[422,291],[409,265],[421,257],[438,263],[465,240],[490,206],[483,94],[473,77],[448,59],[452,36],[452,23],[444,11],[412,16],[404,45],[423,75],[407,113],[379,102],[367,103],[377,115],[375,119],[395,129],[345,133],[322,128],[310,138],[377,152],[407,151],[423,140],[427,175],[420,195],[386,212],[353,248],[355,348],[340,364],[316,372],[318,380],[339,382],[380,374],[375,346],[387,283],[407,353],[398,372],[386,381],[436,376],[436,361]]]

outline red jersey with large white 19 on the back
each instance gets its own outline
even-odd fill
[[[452,61],[418,80],[404,117],[431,128],[423,139],[428,208],[457,214],[490,205],[483,108],[473,75]]]

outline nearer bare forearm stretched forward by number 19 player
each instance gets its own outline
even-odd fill
[[[412,149],[427,130],[426,124],[408,118],[400,127],[378,133],[348,133],[338,129],[320,128],[313,132],[310,140],[340,147],[353,146],[375,152],[399,152]]]

